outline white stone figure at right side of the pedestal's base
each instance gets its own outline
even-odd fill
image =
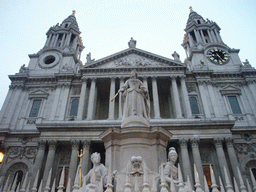
[[[168,162],[164,163],[164,175],[166,182],[170,185],[171,176],[175,184],[178,184],[178,168],[175,166],[178,154],[174,147],[169,148]]]

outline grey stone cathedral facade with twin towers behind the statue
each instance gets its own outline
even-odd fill
[[[78,165],[86,175],[94,152],[112,171],[142,156],[158,172],[170,147],[192,184],[194,165],[209,185],[210,165],[222,180],[223,167],[230,180],[239,180],[237,167],[244,179],[250,169],[256,174],[256,70],[224,43],[217,23],[191,10],[184,62],[176,52],[170,59],[141,50],[131,38],[127,49],[99,60],[88,54],[83,64],[80,33],[72,14],[48,30],[27,67],[9,75],[0,113],[0,186],[9,175],[22,182],[26,173],[33,183],[39,170],[45,187],[49,171],[59,180],[63,167],[73,186]],[[148,90],[149,122],[125,132],[116,93],[133,70]]]

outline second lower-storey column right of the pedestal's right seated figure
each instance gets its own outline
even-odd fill
[[[201,155],[200,155],[200,150],[199,150],[199,139],[193,138],[191,139],[191,148],[192,148],[192,153],[193,153],[193,159],[194,163],[196,165],[196,169],[199,175],[200,183],[202,186],[204,186],[204,171],[203,171],[203,166],[202,166],[202,161],[201,161]]]

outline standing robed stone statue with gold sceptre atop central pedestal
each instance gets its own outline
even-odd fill
[[[122,93],[122,125],[121,127],[149,127],[150,103],[146,87],[133,70],[131,77],[120,88]]]

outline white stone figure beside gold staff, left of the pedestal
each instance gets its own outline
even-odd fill
[[[103,188],[107,185],[107,175],[108,169],[100,163],[100,154],[95,152],[91,155],[91,161],[93,163],[93,168],[84,178],[83,186],[89,181],[83,191],[89,191],[94,188],[96,192],[103,191]]]

